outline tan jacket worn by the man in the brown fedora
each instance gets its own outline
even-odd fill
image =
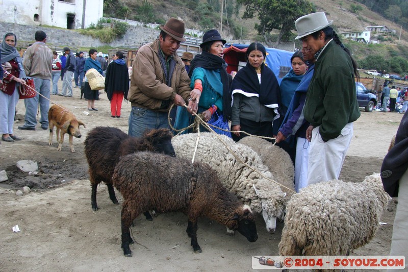
[[[173,104],[176,94],[181,95],[187,103],[190,97],[190,78],[177,53],[173,54],[176,64],[171,78],[171,87],[166,84],[166,77],[159,59],[159,40],[139,48],[133,60],[133,73],[127,100],[132,106],[166,112]],[[163,101],[169,101],[162,108]]]

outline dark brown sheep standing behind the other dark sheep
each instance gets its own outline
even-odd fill
[[[104,181],[108,186],[109,197],[114,204],[119,204],[112,186],[112,175],[119,157],[138,151],[151,151],[175,156],[171,144],[172,134],[168,129],[146,131],[142,137],[134,138],[117,128],[96,127],[85,139],[85,157],[89,164],[91,181],[91,203],[94,211],[96,204],[96,187]],[[148,212],[146,218],[151,219]]]

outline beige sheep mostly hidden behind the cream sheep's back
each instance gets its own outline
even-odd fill
[[[281,187],[286,192],[285,200],[289,201],[294,193],[295,168],[289,154],[281,147],[273,145],[265,139],[259,137],[247,136],[238,141],[238,143],[248,145],[261,157],[264,165],[268,166],[273,175],[273,180],[288,187],[291,190]]]

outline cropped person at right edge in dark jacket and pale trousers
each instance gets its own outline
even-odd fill
[[[398,197],[397,212],[392,231],[391,253],[405,256],[408,267],[408,112],[401,119],[395,144],[390,149],[381,166],[381,179],[386,192]]]

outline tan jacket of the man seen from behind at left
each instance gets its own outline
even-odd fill
[[[25,75],[39,79],[51,79],[53,52],[45,43],[37,41],[25,51],[22,63]]]

